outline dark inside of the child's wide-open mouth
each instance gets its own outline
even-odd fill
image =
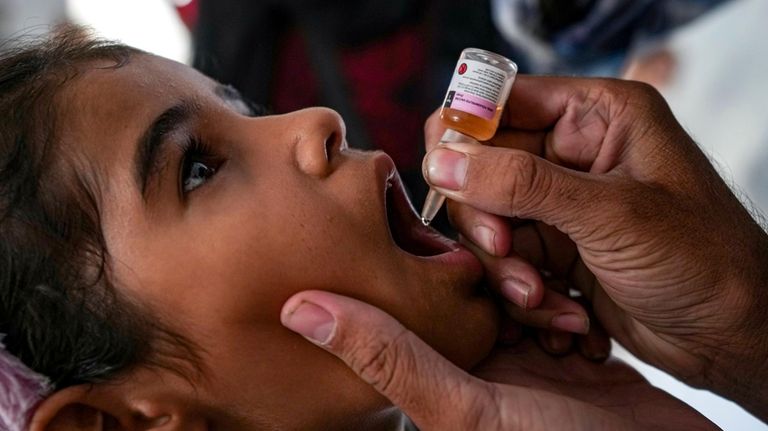
[[[437,256],[455,251],[458,244],[421,223],[405,188],[393,171],[387,178],[385,207],[389,232],[395,244],[414,256]]]

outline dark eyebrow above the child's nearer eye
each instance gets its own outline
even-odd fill
[[[146,200],[147,185],[162,163],[160,156],[168,144],[168,135],[178,130],[196,111],[194,105],[184,101],[166,109],[139,138],[134,165],[139,190]]]

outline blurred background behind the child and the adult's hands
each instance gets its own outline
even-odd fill
[[[190,64],[272,112],[332,107],[351,146],[393,157],[417,206],[422,125],[463,48],[506,55],[523,73],[642,80],[756,217],[768,210],[766,19],[766,0],[0,0],[2,39],[72,21]],[[768,430],[615,352],[723,429]]]

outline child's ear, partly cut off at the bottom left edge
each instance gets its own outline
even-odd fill
[[[132,391],[130,385],[71,386],[43,400],[32,415],[30,431],[175,431],[207,429],[199,412],[181,400],[159,399]],[[173,398],[173,397],[171,397]]]

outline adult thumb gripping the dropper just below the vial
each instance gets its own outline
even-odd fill
[[[535,219],[573,234],[605,216],[610,188],[599,176],[527,151],[446,143],[427,153],[424,178],[447,198],[492,214]]]

